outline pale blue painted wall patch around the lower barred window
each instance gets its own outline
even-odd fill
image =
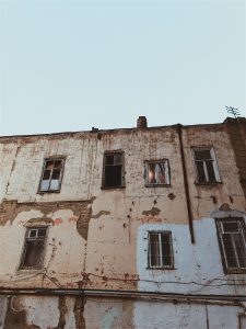
[[[174,270],[148,269],[148,231],[151,230],[172,231]],[[225,275],[223,272],[214,219],[195,222],[195,235],[197,243],[191,245],[187,225],[142,225],[138,230],[137,246],[138,290],[195,295],[246,295],[246,275]]]

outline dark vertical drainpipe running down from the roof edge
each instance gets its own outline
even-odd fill
[[[186,170],[186,160],[185,160],[185,152],[184,152],[184,145],[183,145],[183,131],[181,131],[183,125],[177,124],[176,128],[177,128],[179,147],[180,147],[180,155],[181,155],[183,177],[184,177],[184,184],[185,184],[185,192],[186,192],[186,204],[187,204],[187,212],[188,212],[188,219],[189,219],[189,232],[190,232],[191,243],[195,243],[192,212],[191,212],[188,178],[187,178],[187,170]]]

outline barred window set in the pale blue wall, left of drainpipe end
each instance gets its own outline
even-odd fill
[[[173,269],[171,231],[149,231],[149,268]]]

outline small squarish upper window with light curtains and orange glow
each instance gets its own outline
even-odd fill
[[[145,161],[145,185],[169,185],[169,163],[167,159]]]

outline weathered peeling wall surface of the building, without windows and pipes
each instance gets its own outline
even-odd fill
[[[214,224],[220,216],[246,218],[244,166],[234,141],[225,124],[183,127],[196,241],[191,245],[175,126],[0,138],[0,286],[246,294],[245,274],[223,272]],[[191,147],[197,146],[213,146],[222,183],[196,183]],[[103,155],[117,149],[125,152],[126,188],[102,189]],[[56,156],[65,157],[61,190],[38,193],[44,159]],[[169,161],[171,185],[145,188],[144,161],[163,158]],[[48,226],[43,268],[20,270],[26,227],[38,224]],[[147,269],[149,229],[172,230],[174,270]],[[233,329],[237,313],[244,314],[236,305],[90,300],[66,294],[14,299],[19,329],[208,328],[208,321],[210,329]],[[5,300],[0,321],[5,318],[11,328],[11,304],[0,300]],[[226,327],[230,314],[233,325]]]

